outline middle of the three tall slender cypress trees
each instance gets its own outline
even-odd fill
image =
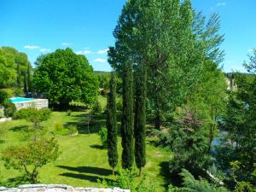
[[[133,77],[132,66],[124,65],[123,70],[123,114],[122,114],[122,167],[130,169],[134,161],[133,146]]]

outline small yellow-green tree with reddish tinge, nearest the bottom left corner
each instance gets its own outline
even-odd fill
[[[59,154],[59,145],[54,138],[41,138],[25,146],[6,148],[2,160],[7,169],[24,171],[31,183],[37,183],[39,168],[56,160]]]

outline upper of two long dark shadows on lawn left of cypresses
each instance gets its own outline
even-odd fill
[[[80,173],[89,173],[89,174],[95,174],[95,175],[100,175],[100,176],[109,176],[112,174],[112,171],[109,169],[104,169],[100,167],[93,167],[93,166],[78,166],[78,167],[73,167],[73,166],[57,166],[61,169],[67,169],[69,171],[73,172],[80,172]]]

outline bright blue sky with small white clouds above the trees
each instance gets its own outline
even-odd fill
[[[38,55],[71,47],[95,70],[110,71],[106,50],[125,0],[0,0],[0,46]],[[192,0],[205,15],[221,16],[225,34],[224,71],[243,71],[242,62],[256,47],[255,0]]]

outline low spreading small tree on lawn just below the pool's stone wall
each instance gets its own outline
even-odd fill
[[[49,108],[22,108],[15,113],[15,119],[26,119],[32,122],[34,128],[40,128],[40,123],[49,119],[50,114]]]

